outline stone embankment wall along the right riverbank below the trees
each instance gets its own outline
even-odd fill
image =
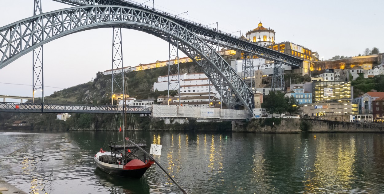
[[[382,133],[381,123],[350,123],[305,118],[263,118],[232,122],[232,132],[244,133]]]

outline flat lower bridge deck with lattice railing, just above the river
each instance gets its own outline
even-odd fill
[[[152,107],[126,106],[127,113],[151,114]],[[122,106],[0,102],[0,112],[121,113]]]

